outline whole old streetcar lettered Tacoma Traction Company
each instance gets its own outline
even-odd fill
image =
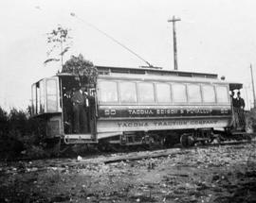
[[[243,88],[215,74],[96,66],[86,131],[74,131],[71,97],[77,76],[58,73],[32,84],[32,114],[46,121],[46,138],[64,144],[167,144],[212,141],[232,126],[230,91]]]

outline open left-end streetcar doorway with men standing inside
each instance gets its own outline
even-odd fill
[[[64,134],[95,131],[95,88],[76,76],[62,76]]]

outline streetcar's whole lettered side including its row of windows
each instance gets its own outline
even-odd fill
[[[98,82],[99,139],[123,131],[228,127],[231,121],[229,87],[217,79],[104,76]]]

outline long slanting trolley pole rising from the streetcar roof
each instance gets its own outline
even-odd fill
[[[145,63],[147,63],[148,66],[150,67],[154,67],[151,63],[149,63],[147,60],[143,59],[142,57],[140,57],[136,52],[134,52],[133,50],[131,50],[130,48],[128,48],[126,45],[124,45],[123,43],[117,41],[114,37],[110,36],[109,34],[107,34],[106,32],[102,31],[101,29],[99,29],[97,26],[92,25],[86,21],[84,21],[82,18],[78,17],[75,13],[71,12],[70,15],[72,17],[77,18],[78,20],[80,20],[82,23],[94,28],[95,30],[99,31],[102,35],[104,35],[105,37],[107,37],[108,39],[112,40],[113,42],[118,43],[121,47],[123,47],[124,49],[126,49],[127,51],[129,51],[130,53],[132,53],[133,55],[135,55],[138,59],[143,60]]]

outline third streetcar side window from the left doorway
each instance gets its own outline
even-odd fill
[[[141,82],[137,84],[139,101],[150,103],[155,101],[154,85],[153,83]]]

